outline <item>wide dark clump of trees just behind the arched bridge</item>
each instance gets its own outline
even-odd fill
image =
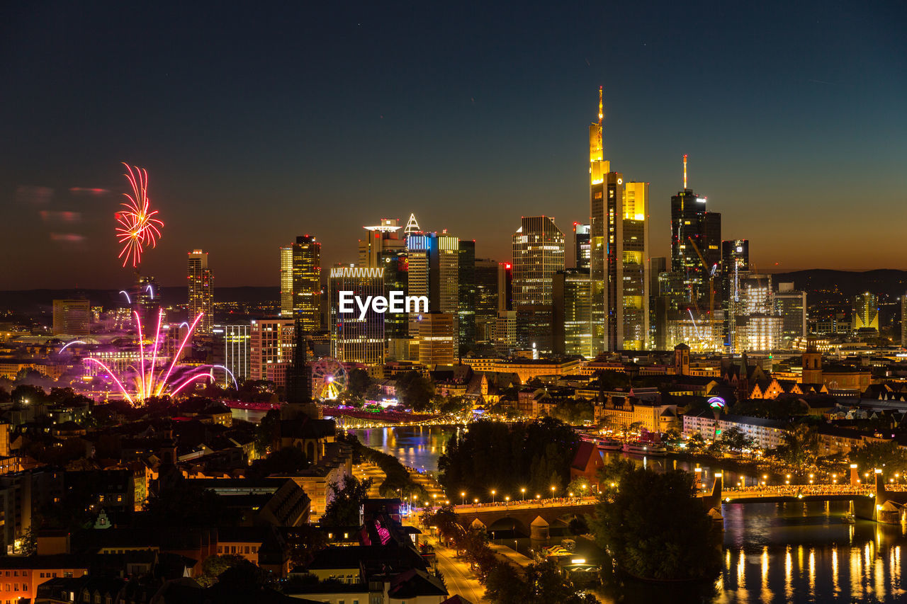
[[[438,459],[439,482],[449,493],[466,492],[471,498],[491,501],[521,489],[558,494],[570,480],[570,465],[580,439],[571,427],[551,417],[533,422],[502,424],[482,420],[453,434]]]

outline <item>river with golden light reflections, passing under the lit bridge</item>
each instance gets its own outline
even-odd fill
[[[437,469],[454,426],[405,426],[353,430],[362,443],[391,453],[405,465]],[[620,454],[620,453],[610,453]],[[689,463],[671,458],[631,457],[657,471]],[[710,484],[713,469],[703,466]],[[728,483],[759,480],[755,474],[725,472]],[[903,602],[907,601],[907,534],[902,526],[859,520],[845,524],[845,502],[724,504],[724,570],[715,585],[629,584],[617,604],[652,601],[704,604],[757,602]],[[682,519],[665,519],[682,521]],[[511,540],[499,540],[508,544]],[[524,550],[526,540],[514,542]],[[668,591],[669,590],[669,591]],[[669,597],[666,598],[666,594]]]

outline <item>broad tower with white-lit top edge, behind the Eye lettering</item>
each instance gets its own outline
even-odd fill
[[[364,317],[354,303],[354,312],[340,312],[340,292],[352,292],[365,300],[385,295],[385,269],[333,267],[330,271],[331,356],[342,363],[383,365],[385,362],[385,314],[368,307]],[[388,312],[390,312],[388,310]]]

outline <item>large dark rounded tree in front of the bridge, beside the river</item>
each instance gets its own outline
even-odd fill
[[[718,531],[688,472],[623,472],[602,492],[593,531],[619,570],[642,579],[709,580],[721,568]]]

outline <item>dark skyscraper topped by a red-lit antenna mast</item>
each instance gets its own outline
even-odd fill
[[[708,300],[708,278],[720,262],[721,214],[707,211],[706,198],[688,189],[684,155],[683,190],[671,197],[671,270],[683,275],[690,301]]]

